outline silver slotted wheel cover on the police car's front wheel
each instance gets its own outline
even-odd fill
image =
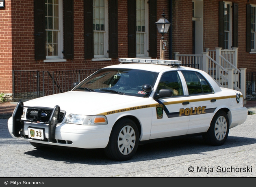
[[[118,135],[117,144],[120,153],[123,155],[129,155],[135,147],[135,131],[134,129],[126,125],[124,126]]]

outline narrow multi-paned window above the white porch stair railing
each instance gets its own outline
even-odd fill
[[[224,5],[224,48],[230,49],[232,44],[232,15],[231,2],[225,2]]]

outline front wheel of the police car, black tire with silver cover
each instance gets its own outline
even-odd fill
[[[111,132],[105,153],[110,159],[125,161],[131,159],[138,148],[139,131],[131,119],[121,119]]]

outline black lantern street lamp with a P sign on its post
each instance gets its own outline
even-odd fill
[[[160,19],[155,23],[156,28],[160,34],[162,34],[161,40],[160,40],[160,59],[165,59],[165,53],[164,51],[167,50],[167,40],[164,40],[163,35],[168,32],[171,23],[168,21],[168,19],[165,18],[165,8],[163,8],[163,14]]]

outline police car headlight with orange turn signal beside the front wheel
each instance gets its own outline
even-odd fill
[[[108,120],[104,115],[79,115],[79,114],[69,114],[65,123],[74,123],[78,125],[106,125]]]

